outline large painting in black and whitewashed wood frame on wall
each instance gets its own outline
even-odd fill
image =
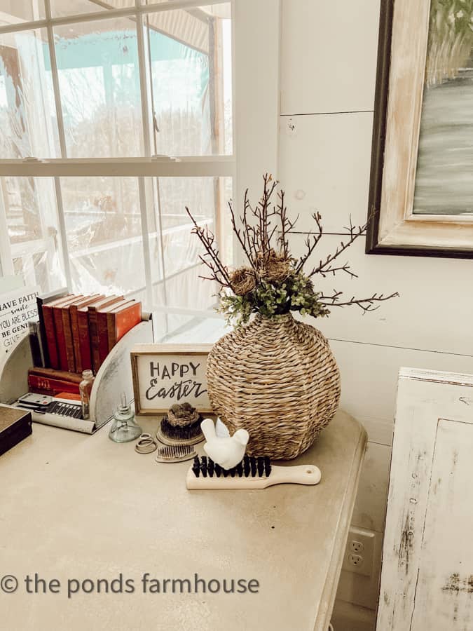
[[[473,0],[381,0],[369,254],[473,257]]]

